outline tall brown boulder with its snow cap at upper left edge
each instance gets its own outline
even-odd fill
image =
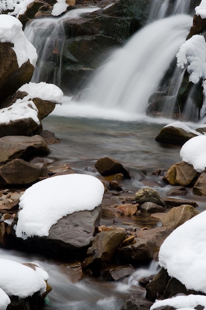
[[[33,75],[37,52],[27,40],[21,22],[0,14],[0,106]]]

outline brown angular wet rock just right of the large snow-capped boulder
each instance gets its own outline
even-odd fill
[[[121,231],[102,231],[92,240],[92,246],[87,250],[88,257],[83,261],[84,268],[92,272],[99,272],[103,262],[112,262],[117,248],[125,239],[126,234]]]

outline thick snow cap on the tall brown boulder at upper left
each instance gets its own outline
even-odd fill
[[[27,40],[22,30],[22,23],[14,16],[0,14],[0,42],[13,43],[19,68],[28,59],[35,66],[37,52]]]

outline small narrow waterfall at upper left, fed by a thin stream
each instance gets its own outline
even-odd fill
[[[63,22],[65,19],[78,18],[83,13],[98,9],[97,6],[74,9],[61,17],[34,19],[26,25],[25,36],[34,45],[39,56],[32,82],[50,82],[60,87],[62,49],[65,42]]]

